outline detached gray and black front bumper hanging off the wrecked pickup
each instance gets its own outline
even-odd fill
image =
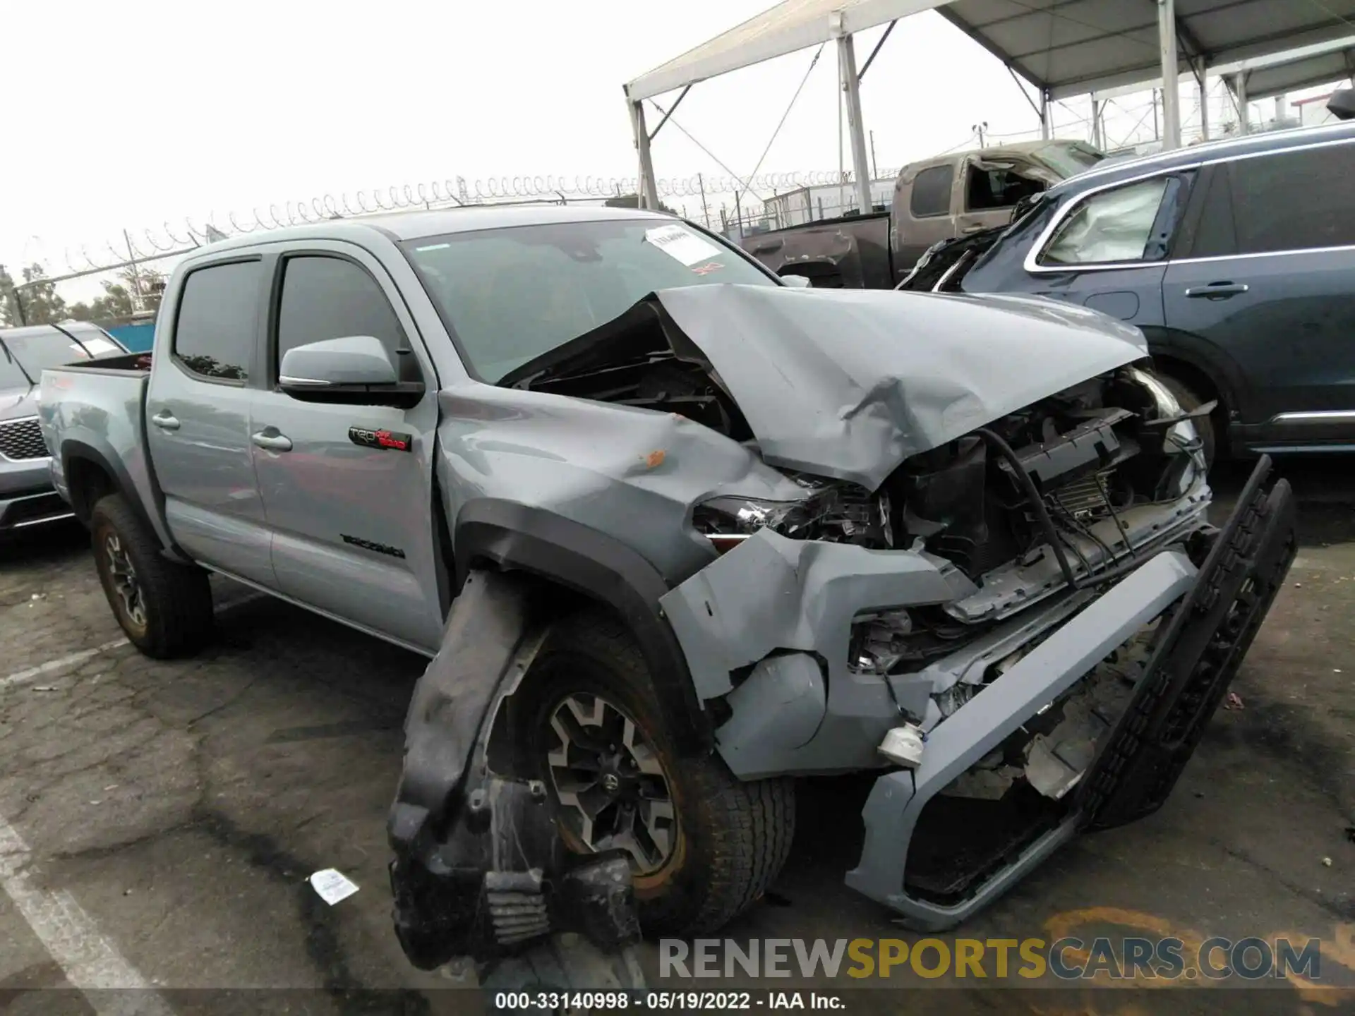
[[[1270,485],[1270,474],[1263,457],[1198,568],[1184,551],[1148,559],[932,730],[917,769],[881,776],[866,802],[866,843],[847,885],[912,927],[942,931],[986,906],[1079,830],[1160,807],[1294,559],[1293,494],[1283,480]],[[1098,740],[1075,791],[1046,809],[1014,813],[1005,840],[972,851],[973,867],[957,881],[962,891],[927,885],[917,874],[925,848],[913,849],[923,809],[1159,616],[1129,704]]]

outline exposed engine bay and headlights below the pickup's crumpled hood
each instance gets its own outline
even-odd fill
[[[717,543],[764,526],[874,550],[920,541],[978,583],[1046,541],[1031,484],[1058,531],[1083,536],[1089,523],[1177,500],[1196,475],[1196,448],[1168,400],[1145,370],[1121,368],[905,461],[878,490],[801,474],[804,501],[715,499],[694,523]]]

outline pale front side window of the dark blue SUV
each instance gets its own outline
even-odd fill
[[[1039,263],[1053,267],[1148,260],[1168,183],[1169,177],[1160,176],[1084,199],[1054,230]]]

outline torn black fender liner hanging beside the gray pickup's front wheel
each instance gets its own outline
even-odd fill
[[[415,687],[386,832],[396,935],[423,970],[462,955],[492,965],[553,932],[621,958],[640,937],[625,856],[568,853],[545,787],[489,767],[495,715],[549,631],[539,592],[473,572]]]

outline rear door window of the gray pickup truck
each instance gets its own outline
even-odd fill
[[[198,268],[183,282],[173,356],[203,379],[244,382],[259,329],[260,261]]]

